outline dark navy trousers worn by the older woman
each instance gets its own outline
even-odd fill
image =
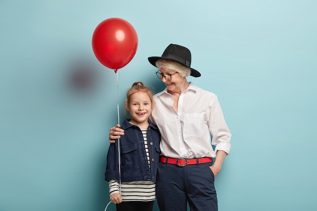
[[[160,211],[217,211],[212,163],[178,166],[160,162],[156,198]]]

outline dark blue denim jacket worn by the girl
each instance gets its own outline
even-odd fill
[[[161,154],[160,131],[156,125],[148,120],[147,144],[150,155],[150,171],[142,132],[137,125],[129,123],[129,120],[124,120],[121,125],[121,128],[125,130],[125,135],[120,138],[121,182],[151,180],[155,183],[157,166],[159,165]],[[115,143],[109,146],[105,180],[110,181],[111,179],[115,179],[120,181],[119,177],[118,140],[115,140]]]

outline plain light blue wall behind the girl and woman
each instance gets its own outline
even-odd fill
[[[104,210],[116,105],[134,81],[164,88],[147,57],[170,43],[191,50],[202,77],[188,80],[218,95],[232,132],[216,179],[219,210],[316,210],[316,7],[0,1],[0,210]],[[111,17],[129,21],[139,38],[118,71],[119,97],[114,71],[91,46],[95,27]]]

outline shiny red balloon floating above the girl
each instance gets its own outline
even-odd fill
[[[138,35],[133,26],[121,18],[109,18],[95,29],[93,51],[99,62],[110,69],[126,66],[138,48]]]

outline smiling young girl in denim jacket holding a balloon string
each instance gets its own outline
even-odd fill
[[[134,82],[126,99],[131,119],[121,125],[125,136],[120,138],[120,170],[117,140],[110,144],[107,155],[105,180],[117,211],[153,209],[161,153],[159,129],[148,119],[153,106],[151,91],[142,82]]]

